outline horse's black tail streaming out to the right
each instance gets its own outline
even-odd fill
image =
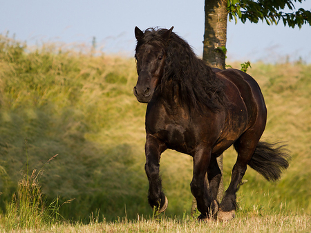
[[[260,141],[248,165],[267,181],[277,181],[283,170],[288,168],[289,160],[290,154],[284,145]]]

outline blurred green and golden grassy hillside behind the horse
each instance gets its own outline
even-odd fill
[[[242,212],[311,214],[311,65],[252,64],[269,111],[264,139],[288,143],[292,162],[279,183],[247,170],[238,192]],[[23,174],[42,168],[48,201],[57,196],[66,219],[100,210],[110,221],[152,214],[144,174],[144,112],[133,96],[135,61],[93,56],[0,36],[0,213]],[[225,154],[225,185],[236,159]],[[161,160],[167,214],[189,213],[191,157],[165,152]]]

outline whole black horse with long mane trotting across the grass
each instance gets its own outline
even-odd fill
[[[210,68],[189,44],[170,30],[135,28],[138,82],[135,97],[148,103],[145,170],[148,200],[158,212],[168,201],[162,192],[160,156],[167,148],[194,158],[191,192],[198,219],[234,217],[236,192],[247,165],[268,181],[280,178],[290,156],[283,145],[261,142],[267,110],[258,83],[240,70]],[[234,145],[238,158],[221,203],[216,158]]]

